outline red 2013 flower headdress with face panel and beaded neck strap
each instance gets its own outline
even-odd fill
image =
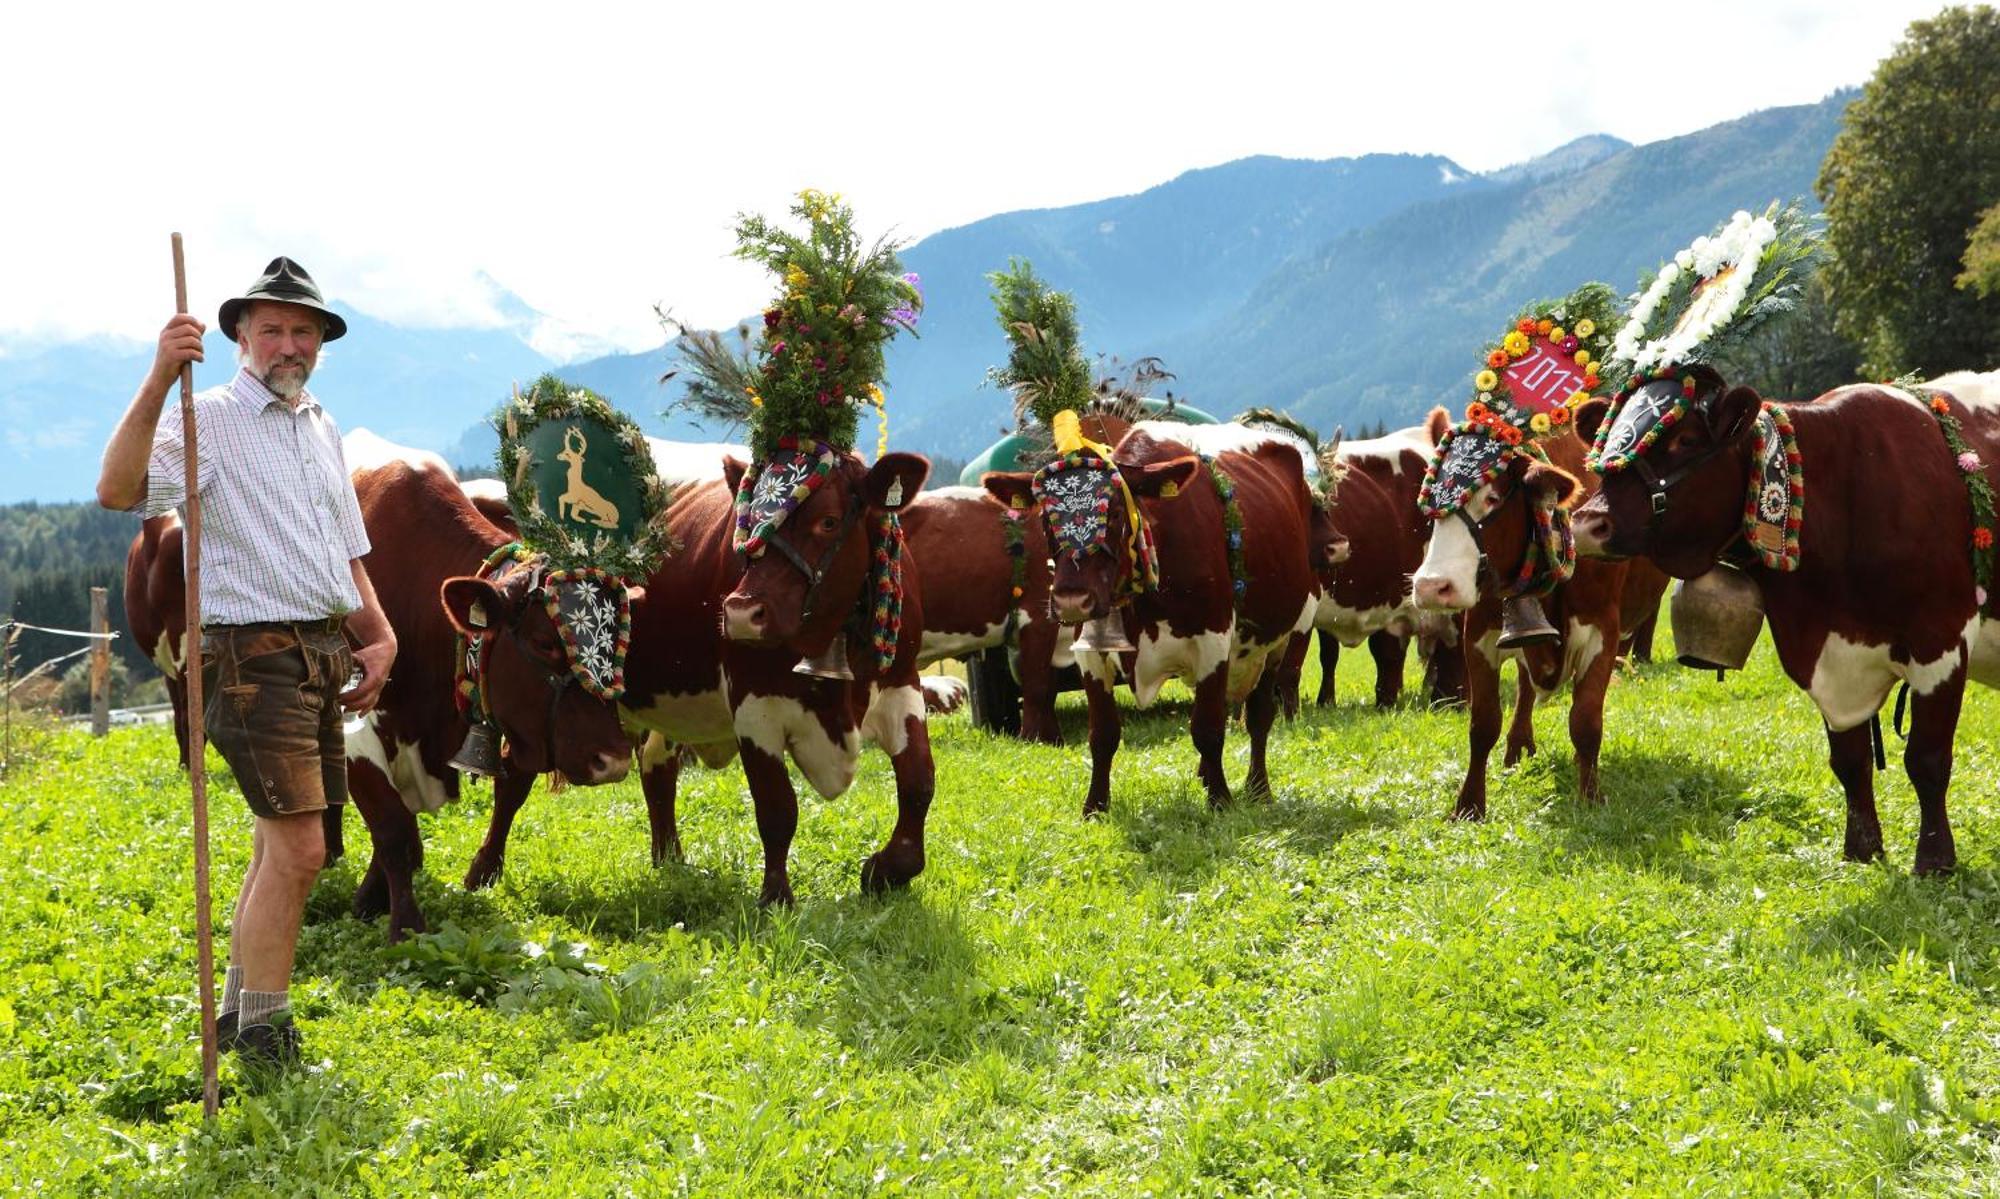
[[[1484,526],[1472,496],[1500,480],[1514,458],[1548,462],[1540,440],[1562,436],[1580,404],[1604,386],[1602,354],[1610,346],[1616,298],[1604,284],[1586,284],[1552,304],[1514,318],[1486,348],[1472,376],[1476,398],[1466,418],[1446,430],[1424,470],[1418,510],[1432,520],[1458,518],[1480,552],[1480,570],[1494,576],[1502,598],[1546,596],[1576,572],[1570,510],[1554,498],[1528,506],[1534,532],[1520,570],[1500,580],[1486,562]],[[1498,508],[1494,508],[1498,512]]]

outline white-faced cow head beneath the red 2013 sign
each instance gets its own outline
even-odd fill
[[[1498,478],[1474,488],[1456,512],[1436,518],[1424,564],[1412,578],[1416,605],[1462,611],[1478,603],[1482,588],[1494,580],[1512,582],[1532,546],[1534,506],[1564,506],[1580,488],[1560,466],[1508,456]]]

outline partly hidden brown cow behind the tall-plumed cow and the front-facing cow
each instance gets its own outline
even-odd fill
[[[1072,657],[1070,637],[1056,635],[1056,619],[1048,613],[1048,538],[1042,522],[1024,518],[1014,522],[1016,544],[1008,522],[1006,508],[980,488],[924,492],[904,510],[910,556],[924,572],[918,665],[1012,639],[1020,649],[1020,735],[1060,745],[1056,669]],[[1012,596],[1016,560],[1020,596]]]

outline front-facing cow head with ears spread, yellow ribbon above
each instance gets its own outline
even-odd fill
[[[1038,508],[1054,556],[1048,603],[1058,623],[1084,623],[1110,615],[1132,590],[1134,510],[1116,480],[1124,480],[1146,520],[1148,504],[1170,504],[1194,480],[1202,460],[1184,454],[1144,466],[1112,470],[1068,468],[1028,474],[988,474],[986,490],[1010,508]]]

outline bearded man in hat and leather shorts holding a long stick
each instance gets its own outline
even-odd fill
[[[256,833],[230,925],[220,1041],[288,1065],[300,1035],[288,985],[306,895],[326,863],[322,813],[346,803],[342,709],[368,711],[396,657],[362,556],[340,432],[306,390],[346,322],[312,276],[276,258],[222,304],[236,378],[194,398],[202,500],[202,727],[230,763]],[[186,502],[180,414],[160,420],[202,322],[160,332],[152,372],[104,448],[98,504],[160,516]],[[352,649],[350,649],[352,641]],[[352,669],[360,679],[344,689]]]

